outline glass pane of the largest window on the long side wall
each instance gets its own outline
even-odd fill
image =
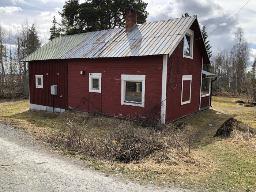
[[[142,82],[125,81],[125,101],[142,102]]]

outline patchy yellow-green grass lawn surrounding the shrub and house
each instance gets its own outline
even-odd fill
[[[187,159],[165,163],[105,162],[86,155],[54,148],[65,155],[82,159],[86,166],[108,175],[128,177],[142,184],[176,186],[199,191],[256,191],[256,139],[242,142],[237,138],[213,138],[220,125],[230,117],[256,128],[256,107],[235,105],[233,97],[212,97],[212,108],[184,117],[173,124],[185,122],[194,135],[191,154]],[[68,120],[86,122],[98,136],[105,135],[120,120],[91,114],[52,113],[29,109],[29,102],[0,100],[0,123],[12,125],[27,133],[42,136],[63,126]],[[121,120],[124,121],[124,120]],[[113,123],[114,122],[114,123]],[[177,158],[178,159],[178,158]],[[247,190],[247,191],[248,191]]]

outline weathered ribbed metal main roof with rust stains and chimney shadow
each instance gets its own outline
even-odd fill
[[[22,61],[172,54],[196,16],[54,38]]]

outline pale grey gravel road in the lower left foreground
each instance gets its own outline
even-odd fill
[[[0,124],[0,191],[192,192],[106,177],[85,168],[77,159],[52,153],[50,147],[34,136],[3,124]]]

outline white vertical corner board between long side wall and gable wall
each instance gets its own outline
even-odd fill
[[[166,85],[167,85],[167,54],[163,55],[162,72],[162,98],[161,98],[161,123],[165,123],[166,117]]]

